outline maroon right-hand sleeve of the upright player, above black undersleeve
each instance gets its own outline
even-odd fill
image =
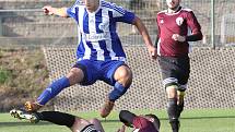
[[[198,23],[198,20],[195,16],[195,13],[192,11],[190,11],[187,14],[187,24],[188,24],[189,28],[191,29],[192,34],[193,33],[199,33],[201,31],[201,26]]]

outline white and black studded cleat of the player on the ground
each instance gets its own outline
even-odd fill
[[[28,120],[31,123],[39,122],[39,119],[37,118],[37,116],[35,113],[30,113],[30,112],[22,110],[22,109],[12,109],[10,111],[10,115],[14,118],[20,119],[20,120],[22,120],[22,119]]]

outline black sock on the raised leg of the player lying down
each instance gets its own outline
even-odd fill
[[[75,117],[69,113],[59,111],[43,111],[35,112],[39,120],[49,121],[58,125],[67,125],[71,128],[75,121]]]

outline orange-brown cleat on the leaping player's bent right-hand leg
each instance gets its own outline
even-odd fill
[[[115,106],[114,101],[106,100],[101,109],[101,117],[106,118],[113,110],[114,106]]]

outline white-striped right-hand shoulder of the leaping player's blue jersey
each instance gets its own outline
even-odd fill
[[[101,5],[103,9],[106,9],[109,11],[116,11],[116,12],[120,12],[120,13],[125,12],[125,9],[122,7],[117,5],[116,3],[113,3],[113,2],[102,0]]]

